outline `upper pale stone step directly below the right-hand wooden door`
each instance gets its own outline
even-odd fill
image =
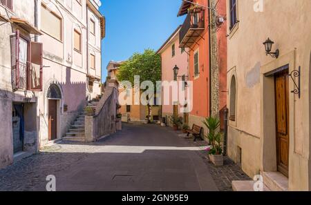
[[[279,172],[261,172],[263,182],[271,191],[288,191],[288,177]]]

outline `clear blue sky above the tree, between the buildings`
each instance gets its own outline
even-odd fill
[[[102,41],[102,79],[109,61],[120,61],[145,48],[158,50],[182,24],[177,17],[182,0],[101,0],[106,17],[106,38]]]

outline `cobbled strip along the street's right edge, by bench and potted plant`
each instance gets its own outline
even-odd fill
[[[206,141],[195,141],[192,137],[185,137],[185,134],[181,132],[176,132],[176,134],[187,141],[189,145],[196,145],[196,146],[207,146]],[[216,186],[219,191],[232,191],[232,181],[247,181],[252,180],[250,179],[243,170],[235,164],[229,157],[225,157],[224,159],[224,166],[214,166],[208,157],[207,151],[198,151],[197,152],[200,157],[204,160],[205,164],[209,167],[211,176],[216,183]]]

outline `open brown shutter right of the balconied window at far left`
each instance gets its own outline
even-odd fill
[[[28,88],[42,91],[43,44],[30,42],[30,72]]]

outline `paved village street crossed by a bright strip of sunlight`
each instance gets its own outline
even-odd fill
[[[191,144],[171,128],[124,124],[96,143],[56,144],[0,170],[0,191],[45,191],[48,175],[57,191],[217,191]]]

